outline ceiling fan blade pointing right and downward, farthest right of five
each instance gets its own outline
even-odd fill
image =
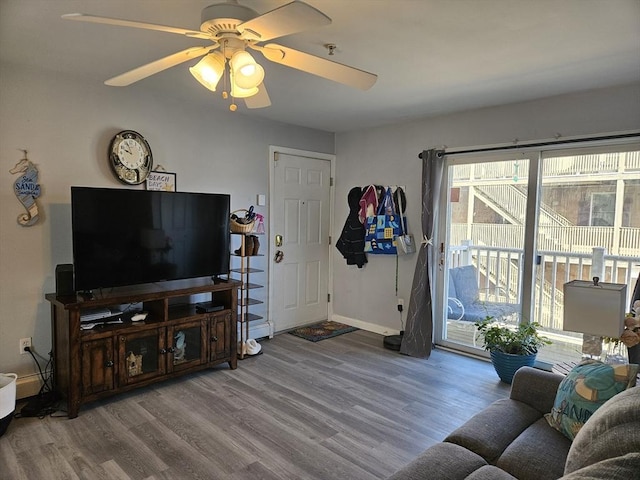
[[[349,85],[350,87],[359,88],[360,90],[370,89],[378,79],[378,76],[373,73],[332,62],[331,60],[283,47],[275,43],[265,45],[262,48],[258,48],[258,50],[262,52],[267,60],[271,60],[272,62],[296,68],[303,72],[312,73],[313,75]]]

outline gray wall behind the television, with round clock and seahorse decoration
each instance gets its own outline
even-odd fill
[[[0,371],[21,378],[35,372],[18,341],[33,337],[37,352],[51,350],[45,293],[55,290],[54,271],[71,263],[70,186],[125,187],[109,169],[107,149],[120,130],[140,132],[155,163],[176,172],[180,191],[229,193],[232,209],[269,193],[269,146],[334,153],[334,135],[251,120],[240,112],[187,107],[131,89],[25,71],[2,64],[0,81]],[[42,187],[42,218],[22,227],[9,170],[29,151]],[[144,188],[143,186],[134,188]],[[267,196],[268,199],[268,196]],[[257,211],[267,214],[267,207]]]

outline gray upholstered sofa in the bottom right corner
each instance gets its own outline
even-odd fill
[[[544,418],[562,378],[521,368],[509,398],[491,404],[389,480],[640,479],[640,387],[606,402],[571,442]]]

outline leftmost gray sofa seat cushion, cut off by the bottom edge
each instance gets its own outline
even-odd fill
[[[388,480],[464,480],[486,464],[466,448],[453,443],[437,443]]]

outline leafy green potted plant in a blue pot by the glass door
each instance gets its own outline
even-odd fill
[[[520,367],[532,366],[538,350],[551,341],[538,334],[537,322],[521,323],[517,326],[502,325],[493,317],[475,323],[483,347],[489,351],[491,362],[500,380],[511,383]]]

